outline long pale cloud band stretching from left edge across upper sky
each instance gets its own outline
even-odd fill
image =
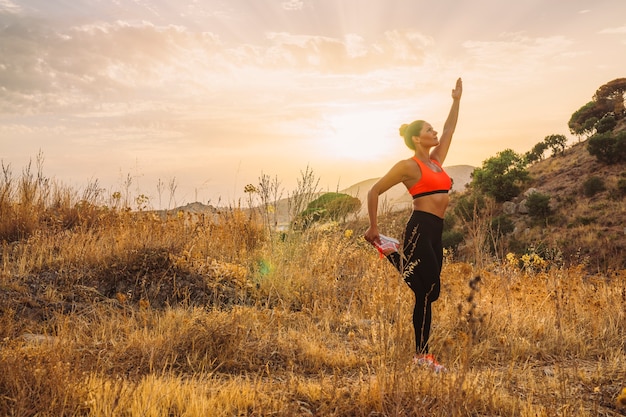
[[[4,14],[0,23],[0,111],[13,114],[100,112],[107,103],[157,97],[228,109],[271,100],[273,90],[291,95],[285,86],[311,77],[326,85],[333,82],[324,81],[328,75],[420,65],[433,43],[415,31],[388,31],[373,41],[270,32],[256,43],[230,44],[210,32],[145,21],[58,28]]]

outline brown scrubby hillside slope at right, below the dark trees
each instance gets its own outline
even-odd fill
[[[529,172],[533,179],[529,188],[550,196],[554,214],[546,224],[534,225],[527,216],[517,214],[515,238],[592,268],[626,266],[626,208],[617,191],[617,182],[626,173],[624,164],[597,162],[583,142],[563,155],[537,162]],[[591,177],[600,178],[605,190],[586,197],[583,184]]]

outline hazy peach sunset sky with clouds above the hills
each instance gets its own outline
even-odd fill
[[[458,77],[444,166],[576,141],[625,76],[624,0],[0,0],[0,160],[153,208],[338,191],[412,156],[401,124],[441,132]]]

